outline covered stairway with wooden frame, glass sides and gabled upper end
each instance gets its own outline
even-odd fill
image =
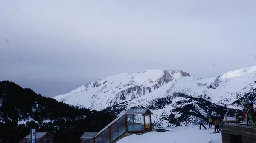
[[[152,131],[152,112],[148,108],[128,109],[93,138],[93,143],[114,143],[125,133],[145,133],[146,117],[149,117],[149,131]]]

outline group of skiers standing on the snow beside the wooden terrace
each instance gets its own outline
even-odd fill
[[[211,128],[212,127],[212,123],[214,123],[214,133],[217,133],[217,132],[219,133],[219,131],[221,131],[221,129],[222,129],[222,122],[219,121],[218,118],[215,118],[215,120],[212,121],[212,118],[213,118],[213,116],[209,116],[209,128]],[[201,129],[201,126],[204,127],[204,129],[207,129],[204,126],[203,119],[201,119],[199,121],[199,124],[200,124],[199,129]]]

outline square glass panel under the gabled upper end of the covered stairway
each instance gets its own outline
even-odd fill
[[[143,132],[144,131],[144,117],[139,115],[127,115],[127,125],[129,132]]]

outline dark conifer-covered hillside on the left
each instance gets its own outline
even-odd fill
[[[27,121],[31,118],[34,121]],[[114,119],[106,112],[69,106],[14,82],[0,81],[0,142],[18,143],[36,127],[54,135],[55,143],[79,143],[84,132],[98,132]]]

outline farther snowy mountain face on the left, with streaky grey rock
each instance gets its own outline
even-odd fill
[[[178,70],[159,69],[146,70],[143,73],[121,73],[101,78],[53,98],[67,104],[101,110],[151,93],[181,76],[190,75]]]

